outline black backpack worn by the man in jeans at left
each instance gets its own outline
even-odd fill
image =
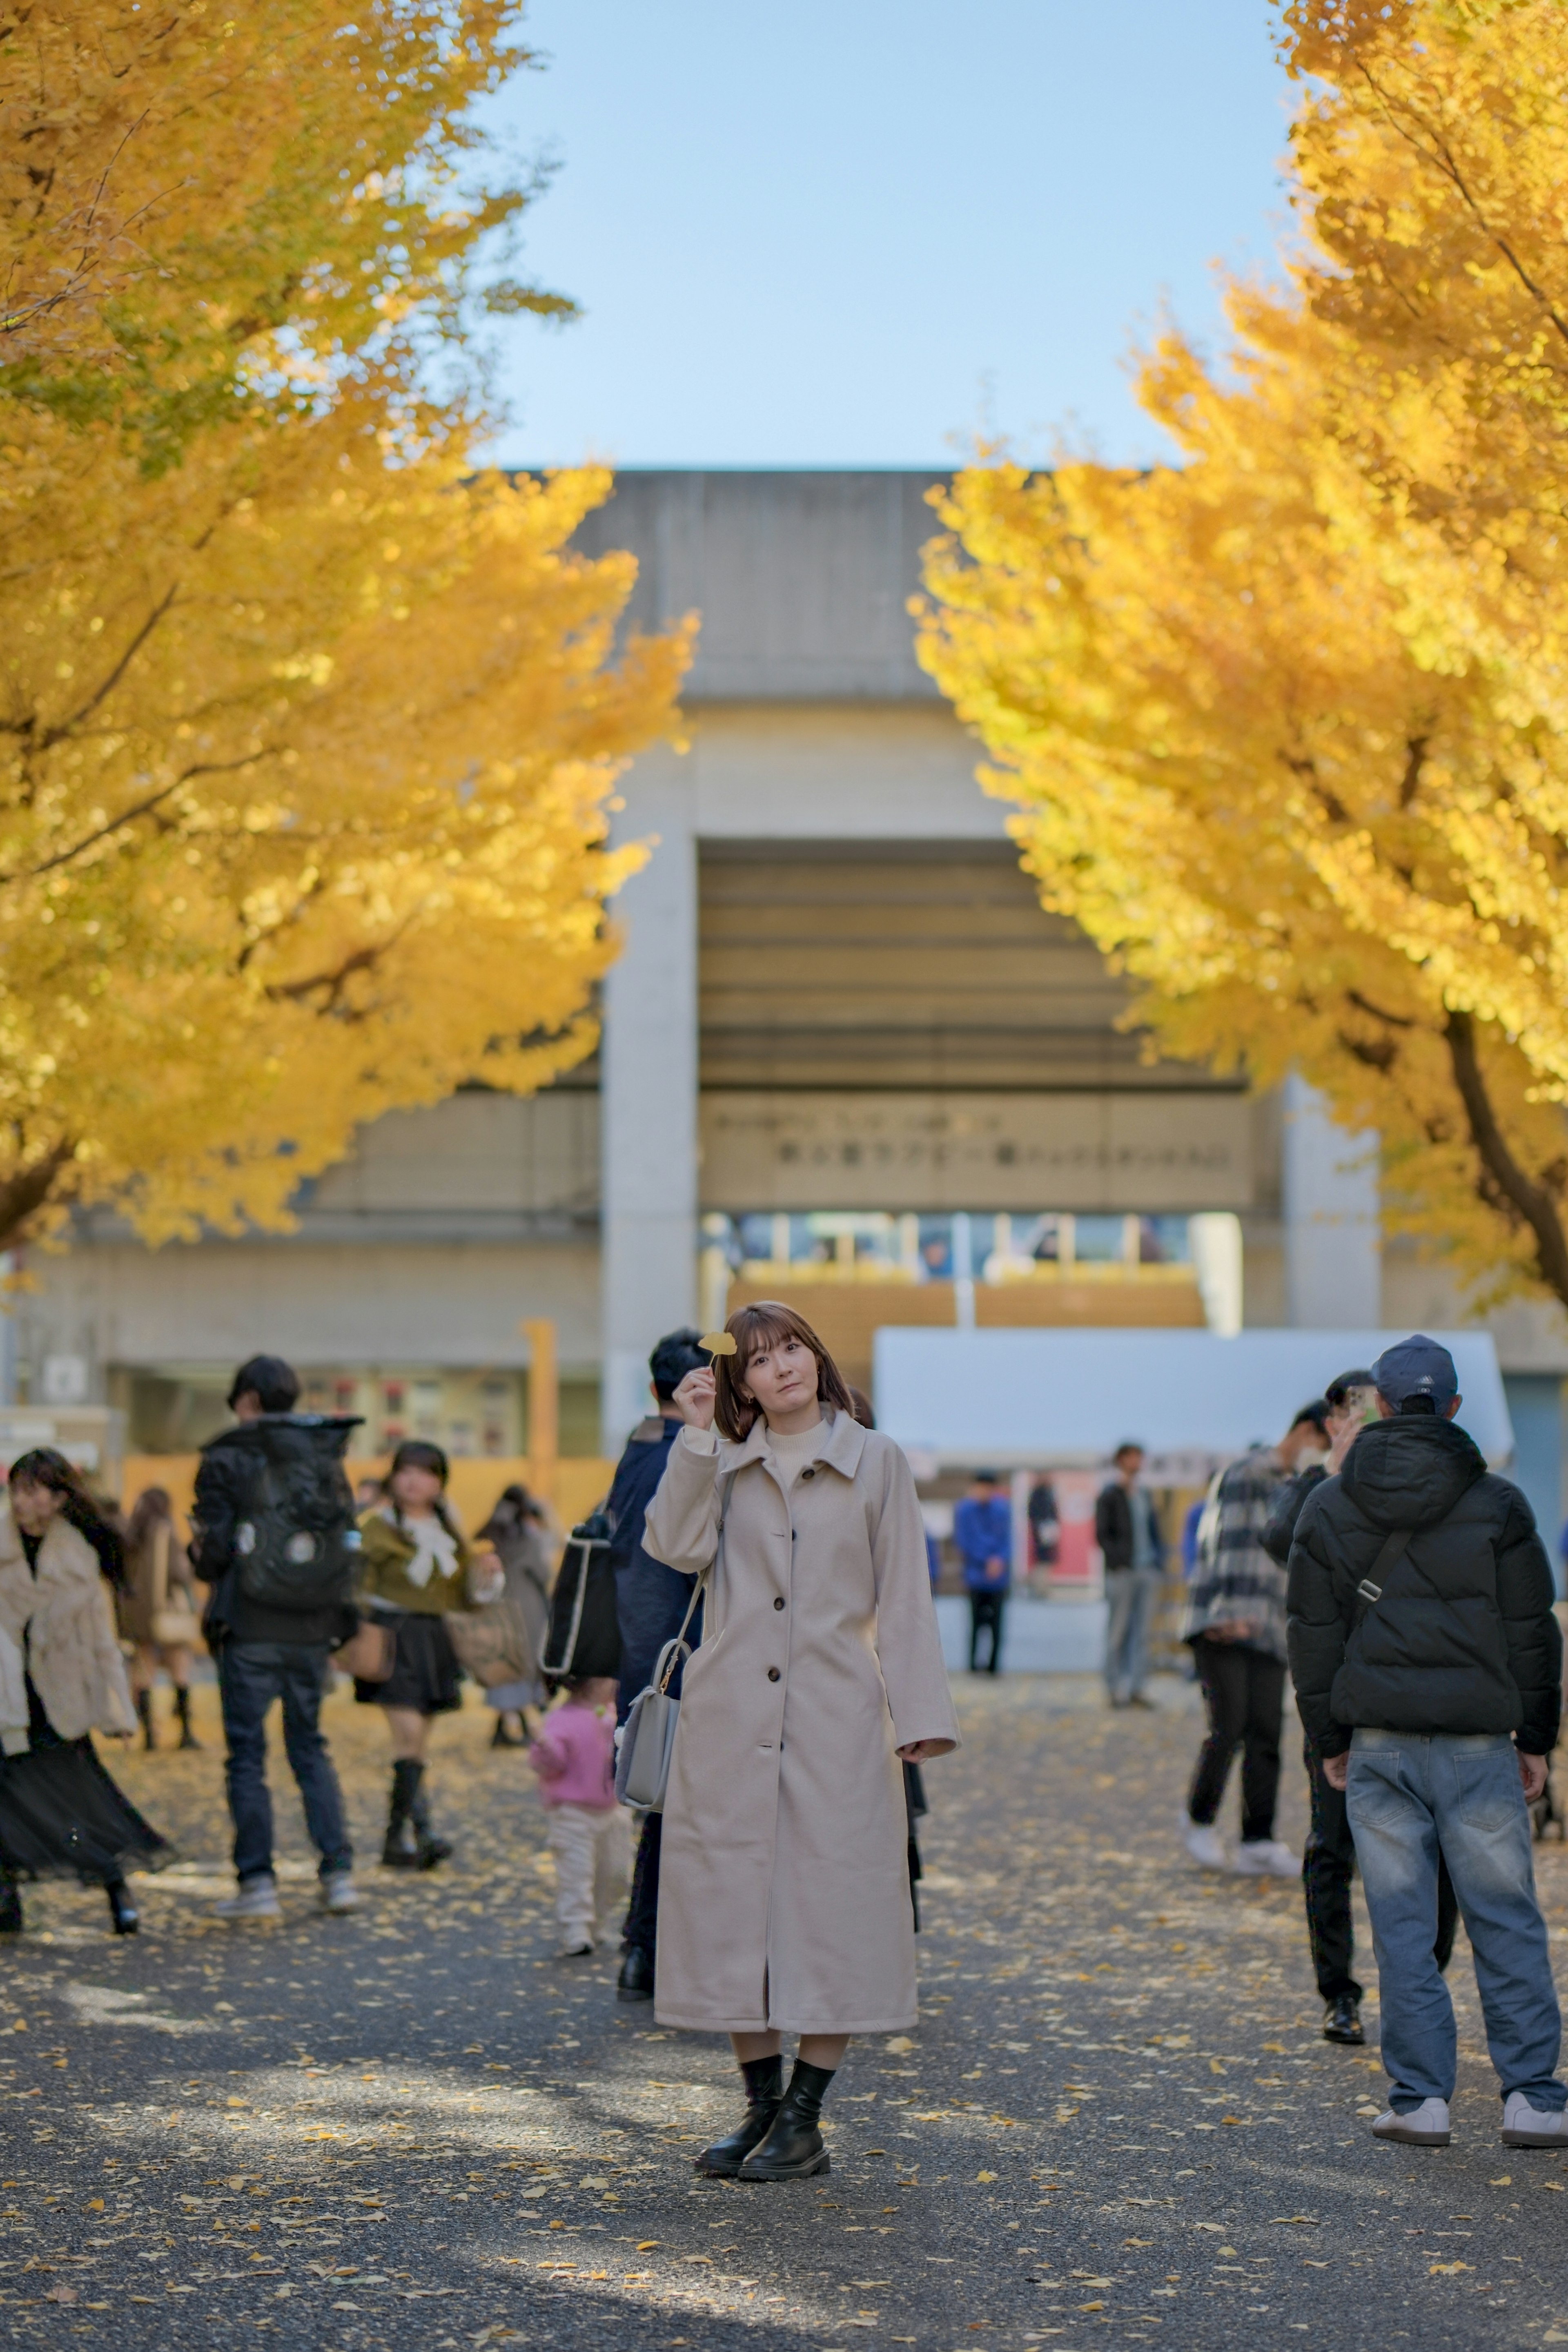
[[[240,1595],[259,1609],[334,1609],[353,1599],[360,1562],[355,1498],[343,1470],[343,1414],[263,1414],[244,1510],[235,1519]]]

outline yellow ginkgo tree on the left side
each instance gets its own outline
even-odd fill
[[[362,1120],[592,1047],[686,633],[618,644],[630,557],[571,553],[609,475],[473,463],[517,16],[9,12],[0,1247],[280,1223]]]

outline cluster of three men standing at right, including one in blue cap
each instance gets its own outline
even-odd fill
[[[1443,1971],[1469,1933],[1509,2147],[1568,2147],[1561,2016],[1530,1806],[1556,1748],[1556,1588],[1521,1489],[1458,1425],[1453,1357],[1415,1336],[1305,1404],[1213,1484],[1185,1639],[1208,1736],[1182,1837],[1204,1867],[1302,1875],[1324,2034],[1361,2044],[1352,1875],[1373,1926],[1382,2140],[1446,2147],[1458,2037]],[[1286,1682],[1312,1828],[1274,1835]],[[1241,1757],[1241,1842],[1218,1816]]]

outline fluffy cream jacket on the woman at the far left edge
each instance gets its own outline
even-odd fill
[[[33,1573],[9,1503],[0,1503],[0,1736],[7,1755],[26,1748],[24,1663],[63,1740],[136,1729],[99,1555],[68,1519],[49,1519]]]

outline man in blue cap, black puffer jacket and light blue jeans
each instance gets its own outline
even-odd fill
[[[1432,1952],[1439,1853],[1476,1959],[1507,2147],[1568,2147],[1561,2016],[1528,1799],[1556,1745],[1563,1642],[1523,1494],[1455,1428],[1429,1338],[1373,1367],[1380,1418],[1307,1496],[1288,1576],[1291,1675],[1345,1790],[1382,1992],[1382,2140],[1446,2147],[1453,2002]]]

